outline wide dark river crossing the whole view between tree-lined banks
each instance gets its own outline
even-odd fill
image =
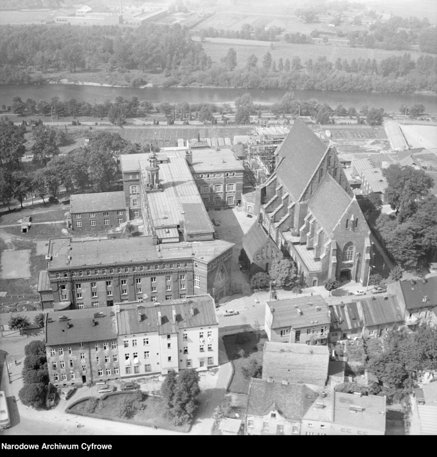
[[[255,103],[279,102],[286,91],[280,89],[221,89],[199,87],[103,87],[75,84],[43,84],[43,85],[4,85],[0,86],[0,105],[11,105],[12,98],[19,96],[23,101],[27,98],[49,101],[58,96],[62,101],[75,98],[87,102],[103,103],[113,101],[115,97],[138,97],[140,101],[147,100],[154,103],[233,103],[235,98],[249,92]],[[311,99],[335,107],[341,103],[346,108],[360,109],[363,105],[372,108],[384,108],[387,112],[399,111],[402,105],[412,106],[422,103],[428,113],[437,113],[437,94],[376,94],[363,92],[334,92],[318,90],[295,90],[294,96],[298,100]]]

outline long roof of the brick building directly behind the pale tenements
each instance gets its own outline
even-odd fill
[[[209,262],[232,246],[233,243],[223,240],[154,246],[151,236],[86,241],[57,238],[50,240],[51,260],[47,262],[47,270],[94,268],[193,257],[202,257],[204,262]]]

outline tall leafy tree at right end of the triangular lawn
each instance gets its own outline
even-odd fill
[[[170,410],[175,425],[187,424],[193,418],[195,400],[201,391],[199,381],[199,374],[194,370],[184,370],[177,375]]]

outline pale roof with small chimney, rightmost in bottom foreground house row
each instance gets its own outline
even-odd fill
[[[362,411],[351,410],[363,409]],[[335,392],[334,423],[385,432],[386,398],[378,395],[355,395],[353,393]]]

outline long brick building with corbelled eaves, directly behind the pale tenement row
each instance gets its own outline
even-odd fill
[[[231,288],[232,243],[156,245],[151,236],[112,240],[50,240],[48,281],[55,309],[163,302]],[[48,297],[45,297],[48,301]]]

